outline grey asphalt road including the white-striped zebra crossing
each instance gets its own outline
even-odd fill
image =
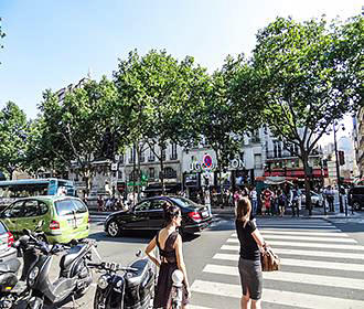
[[[364,212],[355,219],[266,217],[258,219],[258,226],[282,262],[281,271],[264,274],[264,308],[364,308]],[[108,262],[130,264],[151,237],[129,233],[110,238],[99,223],[92,224],[90,238],[98,241],[98,252]],[[190,308],[238,308],[242,292],[233,219],[220,217],[208,230],[185,238],[183,253],[192,285]],[[98,276],[94,274],[95,283]],[[95,286],[77,300],[78,308],[93,308]],[[62,308],[73,308],[72,302]]]

